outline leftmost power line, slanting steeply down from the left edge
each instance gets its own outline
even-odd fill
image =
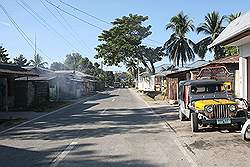
[[[28,37],[28,35],[20,28],[20,26],[15,22],[15,20],[9,15],[7,10],[0,4],[0,8],[3,10],[5,15],[8,17],[9,21],[14,25],[14,27],[17,29],[17,31],[20,33],[20,35],[23,37],[23,39],[28,43],[28,45],[32,48],[33,51],[36,51],[36,48],[34,48],[33,41]],[[35,46],[36,47],[36,46]],[[45,57],[48,57],[40,48],[37,48]]]

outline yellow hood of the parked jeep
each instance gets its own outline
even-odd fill
[[[227,100],[227,99],[206,99],[206,100],[197,100],[194,102],[196,110],[204,110],[207,105],[215,104],[236,104],[236,102]]]

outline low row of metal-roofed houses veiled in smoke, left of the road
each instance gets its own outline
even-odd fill
[[[43,104],[47,101],[58,101],[83,97],[95,91],[94,77],[73,70],[52,71],[41,67],[25,67],[37,76],[16,78],[22,87],[22,100],[18,107]]]

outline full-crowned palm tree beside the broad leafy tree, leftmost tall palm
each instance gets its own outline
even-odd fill
[[[166,25],[166,30],[168,29],[171,29],[173,33],[164,44],[166,54],[174,65],[179,66],[181,61],[183,66],[187,60],[193,60],[195,57],[192,49],[194,43],[186,37],[189,31],[194,31],[193,21],[183,12],[180,12],[172,17]]]

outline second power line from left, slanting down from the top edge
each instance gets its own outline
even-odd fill
[[[47,30],[49,31],[53,31],[55,34],[57,34],[60,38],[62,38],[70,47],[73,47],[76,51],[79,51],[73,44],[71,44],[71,42],[69,42],[62,34],[60,34],[54,27],[52,27],[49,23],[47,23],[47,21],[45,19],[43,19],[42,16],[40,16],[38,13],[36,13],[26,2],[24,1],[20,1],[22,3],[22,5],[20,5],[20,3],[18,3],[20,6],[22,6],[23,8],[26,8],[26,11],[29,10],[30,12],[28,13],[33,13],[31,16],[34,17],[42,26],[44,26]],[[42,22],[42,23],[41,23]]]

